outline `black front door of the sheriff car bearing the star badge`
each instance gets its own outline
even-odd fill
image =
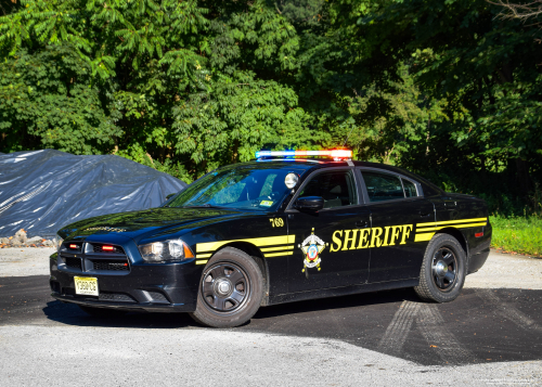
[[[299,196],[321,196],[319,211],[287,210],[288,235],[295,235],[288,257],[288,292],[363,284],[369,278],[369,250],[359,235],[369,229],[370,212],[360,205],[351,168],[317,171],[299,189]]]

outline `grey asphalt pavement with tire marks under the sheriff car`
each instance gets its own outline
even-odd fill
[[[506,259],[488,268],[517,272]],[[527,262],[529,275],[542,263]],[[10,385],[153,382],[146,372],[168,385],[542,385],[542,286],[529,281],[496,279],[440,305],[412,289],[293,302],[210,330],[183,313],[92,318],[51,298],[47,275],[4,276],[0,375]]]

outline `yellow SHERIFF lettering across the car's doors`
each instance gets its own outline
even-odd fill
[[[405,245],[414,224],[376,227],[371,229],[336,230],[330,253],[358,248]]]

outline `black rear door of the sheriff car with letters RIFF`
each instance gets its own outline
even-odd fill
[[[372,219],[369,282],[418,278],[429,241],[416,231],[435,224],[433,203],[411,179],[379,169],[360,171]]]

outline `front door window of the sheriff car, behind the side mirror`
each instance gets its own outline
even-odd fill
[[[318,173],[299,194],[299,197],[306,196],[323,197],[324,208],[358,204],[353,173],[349,170]]]

